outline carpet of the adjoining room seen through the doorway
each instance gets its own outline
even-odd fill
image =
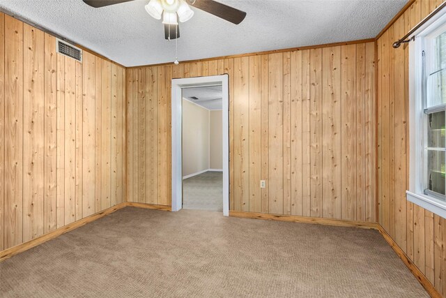
[[[183,209],[223,212],[223,172],[204,172],[183,180]]]

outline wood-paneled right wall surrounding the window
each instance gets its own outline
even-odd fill
[[[378,39],[378,204],[379,223],[446,296],[446,219],[406,200],[408,45],[392,47],[441,2],[415,1]]]

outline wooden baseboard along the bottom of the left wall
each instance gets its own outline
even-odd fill
[[[49,232],[47,234],[44,234],[36,239],[32,239],[30,241],[27,241],[25,243],[19,244],[17,246],[13,246],[11,248],[8,248],[4,251],[0,251],[0,262],[4,261],[8,258],[11,258],[13,255],[17,255],[18,253],[22,253],[24,251],[29,250],[30,248],[33,248],[35,246],[38,246],[39,244],[43,244],[46,241],[49,241],[51,239],[54,239],[56,237],[59,237],[61,234],[65,234],[66,232],[70,232],[72,230],[75,230],[79,227],[82,227],[83,225],[86,225],[87,223],[91,223],[92,221],[95,221],[99,218],[102,218],[108,214],[112,214],[114,211],[117,211],[119,209],[123,209],[126,207],[127,204],[121,203],[117,204],[114,207],[110,207],[108,209],[105,209],[103,211],[100,211],[96,214],[93,214],[91,216],[87,216],[86,218],[82,218],[79,221],[75,221],[74,223],[70,223],[68,225],[65,225],[57,230],[54,230],[52,232]]]

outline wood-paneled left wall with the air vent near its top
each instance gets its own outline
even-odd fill
[[[0,13],[0,251],[123,202],[125,69]]]

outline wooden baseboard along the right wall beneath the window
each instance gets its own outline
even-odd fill
[[[394,252],[397,253],[399,258],[408,267],[410,272],[412,272],[413,276],[415,276],[415,278],[417,278],[417,281],[419,281],[421,283],[424,290],[426,290],[426,292],[428,292],[428,294],[431,295],[431,297],[441,298],[442,296],[440,295],[440,293],[432,285],[432,283],[429,281],[429,279],[427,279],[426,276],[424,276],[422,271],[420,271],[420,269],[418,269],[418,267],[412,262],[412,260],[410,260],[410,258],[406,255],[406,253],[404,253],[404,251],[392,239],[392,237],[390,237],[390,235],[387,234],[387,232],[384,230],[384,228],[378,223],[377,223],[377,225],[378,225],[378,231],[380,232],[381,235],[383,235],[383,238],[385,239],[385,241],[387,241],[387,243],[390,245],[390,247],[392,247]]]

